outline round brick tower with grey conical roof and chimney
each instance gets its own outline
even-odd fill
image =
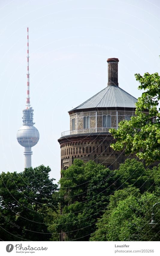
[[[58,140],[61,169],[67,169],[74,159],[82,159],[114,170],[128,157],[124,151],[113,151],[110,147],[114,140],[109,129],[117,129],[121,120],[130,120],[135,115],[137,99],[118,85],[118,58],[109,58],[107,62],[107,87],[68,111],[70,130],[62,132]]]

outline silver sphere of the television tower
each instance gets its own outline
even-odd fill
[[[17,141],[23,147],[33,147],[39,141],[39,131],[35,126],[23,125],[17,131]]]

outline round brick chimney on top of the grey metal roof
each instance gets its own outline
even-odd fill
[[[108,62],[108,84],[118,86],[118,62],[119,59],[117,58],[109,58],[107,59]]]

